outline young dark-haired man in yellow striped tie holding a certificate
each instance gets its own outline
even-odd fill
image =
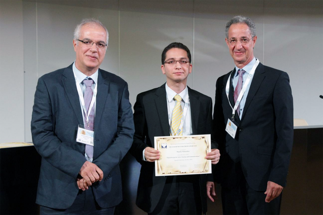
[[[159,159],[160,151],[154,150],[154,137],[170,136],[171,133],[210,134],[212,99],[186,85],[192,64],[190,50],[185,45],[168,45],[162,52],[161,63],[161,71],[166,75],[167,82],[138,94],[134,105],[135,134],[130,152],[141,163],[136,204],[151,215],[201,215],[202,211],[205,214],[206,174],[155,176],[154,161]],[[181,101],[175,101],[178,96]],[[180,117],[183,122],[179,122],[179,127],[174,130],[173,111],[177,103],[184,110],[184,104],[189,105],[186,114],[183,111],[183,118]],[[212,164],[219,161],[220,153],[216,147],[213,143],[212,151],[206,156]]]

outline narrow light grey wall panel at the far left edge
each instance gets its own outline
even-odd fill
[[[0,1],[0,142],[23,142],[24,54],[21,1]]]

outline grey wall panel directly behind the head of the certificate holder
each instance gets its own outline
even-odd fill
[[[129,84],[132,105],[138,93],[166,82],[161,53],[172,42],[192,51],[193,1],[120,1],[120,76]]]

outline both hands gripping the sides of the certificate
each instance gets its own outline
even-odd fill
[[[160,158],[161,152],[159,150],[155,150],[151,147],[145,148],[145,158],[149,162],[154,162]],[[220,151],[218,149],[211,149],[211,152],[207,153],[205,159],[211,160],[212,164],[217,164],[220,160]]]

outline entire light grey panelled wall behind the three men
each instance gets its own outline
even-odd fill
[[[101,68],[128,82],[133,105],[138,93],[165,82],[161,52],[175,41],[186,44],[192,53],[188,85],[214,100],[216,79],[234,67],[224,42],[224,26],[234,15],[249,16],[257,27],[255,57],[290,76],[294,118],[309,125],[323,124],[323,100],[318,97],[323,94],[321,0],[88,2],[0,0],[0,38],[8,41],[0,48],[1,74],[15,80],[0,86],[6,92],[0,95],[4,103],[0,110],[5,113],[0,142],[31,141],[37,79],[75,60],[73,30],[85,17],[99,18],[107,26],[109,47]],[[15,41],[15,49],[9,41]]]

